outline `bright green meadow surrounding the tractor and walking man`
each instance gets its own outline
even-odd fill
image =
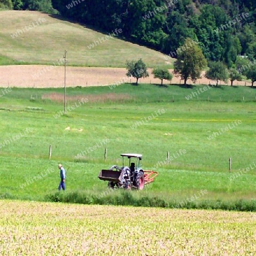
[[[108,86],[68,88],[67,98],[73,100],[67,102],[70,111],[66,115],[61,114],[62,102],[46,99],[53,93],[60,97],[63,89],[13,88],[0,102],[2,197],[45,200],[46,195],[57,190],[59,162],[66,169],[69,167],[67,192],[102,195],[107,184],[98,179],[100,170],[121,165],[119,155],[123,152],[137,152],[143,154],[144,169],[159,172],[155,182],[139,196],[177,202],[206,189],[199,200],[255,199],[256,167],[241,170],[254,167],[256,162],[256,90],[221,86],[199,98],[185,99],[199,88],[152,84],[124,84],[112,90]],[[112,100],[108,100],[110,95]],[[72,110],[79,98],[86,97],[87,103]],[[156,117],[158,110],[164,113]],[[154,117],[148,121],[152,114]],[[238,120],[241,124],[234,125]],[[216,137],[209,139],[214,132],[218,132]],[[14,141],[19,134],[23,137]],[[106,139],[109,142],[105,144]],[[160,163],[166,159],[167,151],[170,156],[177,156],[179,150],[185,150],[185,154],[171,160],[168,166]],[[82,151],[86,151],[84,156],[76,159]],[[47,174],[48,168],[54,171]],[[236,173],[240,176],[232,176]],[[31,181],[38,175],[42,179]],[[120,192],[114,193],[119,196]]]

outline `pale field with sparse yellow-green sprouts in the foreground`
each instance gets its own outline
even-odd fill
[[[255,255],[255,213],[0,201],[2,255]]]

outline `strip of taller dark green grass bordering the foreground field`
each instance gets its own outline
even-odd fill
[[[256,212],[256,200],[199,200],[185,202],[177,207],[179,200],[163,199],[159,196],[145,195],[143,191],[110,191],[107,195],[89,192],[53,193],[46,196],[47,201],[77,204],[126,205],[133,207],[158,207],[174,209],[207,209],[235,210],[241,212]],[[180,199],[182,200],[182,199]]]

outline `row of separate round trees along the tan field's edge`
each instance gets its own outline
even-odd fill
[[[177,59],[174,62],[174,74],[184,80],[184,85],[187,85],[188,79],[196,82],[201,77],[202,71],[207,68],[207,64],[208,69],[205,77],[216,81],[216,86],[218,86],[219,81],[228,82],[228,79],[230,79],[231,86],[233,86],[234,81],[242,80],[242,75],[251,80],[251,86],[256,81],[256,63],[250,63],[247,59],[240,59],[240,61],[237,61],[237,65],[234,64],[233,67],[228,69],[221,61],[210,61],[208,63],[201,48],[193,44],[191,38],[185,39],[184,45],[179,49],[180,51],[177,51]],[[246,68],[242,69],[241,64],[242,67]],[[137,85],[139,79],[148,76],[146,64],[143,63],[142,59],[127,61],[126,68],[126,75],[135,77]],[[161,85],[163,85],[163,80],[172,80],[172,74],[167,68],[155,68],[152,74],[154,78],[161,80]]]

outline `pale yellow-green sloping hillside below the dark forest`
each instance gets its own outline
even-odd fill
[[[63,60],[64,49],[68,51],[68,65],[125,67],[126,60],[138,58],[149,67],[166,64],[162,53],[115,38],[106,40],[100,32],[48,14],[1,11],[0,20],[2,64],[57,64],[57,60]],[[13,38],[11,35],[17,30],[22,32]],[[102,36],[105,42],[100,43]],[[96,40],[99,44],[89,49]]]

